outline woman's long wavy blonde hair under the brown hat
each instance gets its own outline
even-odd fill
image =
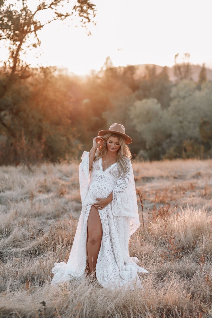
[[[107,133],[101,137],[103,139],[103,143],[101,146],[99,146],[97,148],[97,152],[94,156],[94,161],[99,159],[100,157],[106,156],[107,139],[110,137],[117,137],[119,140],[119,143],[120,143],[120,147],[119,147],[117,154],[116,154],[116,157],[115,157],[117,165],[118,165],[118,169],[119,169],[119,176],[118,177],[120,177],[122,172],[123,172],[123,175],[125,176],[125,174],[127,172],[127,163],[128,163],[127,158],[130,158],[130,160],[131,160],[132,154],[131,154],[129,147],[125,143],[124,137],[122,135],[115,134],[115,133]]]

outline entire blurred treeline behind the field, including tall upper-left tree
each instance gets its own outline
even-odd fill
[[[88,27],[95,6],[78,1],[69,13],[64,0],[43,1],[36,10],[22,1],[17,9],[0,1],[0,40],[10,55],[0,68],[0,164],[60,162],[90,150],[98,131],[121,123],[133,139],[133,157],[207,158],[212,156],[212,82],[205,65],[193,79],[189,53],[170,68],[146,65],[114,67],[106,58],[99,72],[79,77],[56,67],[31,68],[21,53],[40,44],[38,30],[77,14]],[[39,12],[51,19],[39,21]],[[31,37],[33,35],[33,37]]]

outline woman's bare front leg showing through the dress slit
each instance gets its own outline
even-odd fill
[[[102,239],[102,224],[98,209],[92,205],[87,220],[87,253],[90,273],[95,271]]]

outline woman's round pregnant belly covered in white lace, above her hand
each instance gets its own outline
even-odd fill
[[[92,199],[103,197],[106,198],[113,191],[116,186],[116,179],[108,173],[98,171],[92,172],[91,180],[89,183],[89,193]]]

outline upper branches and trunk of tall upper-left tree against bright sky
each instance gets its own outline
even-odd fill
[[[14,4],[6,5],[5,0],[1,0],[0,4],[0,40],[9,41],[10,56],[9,61],[6,63],[10,68],[10,78],[18,71],[20,77],[23,77],[23,71],[26,70],[28,65],[23,66],[20,60],[20,52],[23,51],[23,45],[30,36],[34,35],[35,42],[29,43],[27,48],[36,48],[40,45],[38,38],[38,31],[41,30],[46,24],[52,21],[64,21],[67,17],[72,17],[77,14],[81,18],[81,24],[85,27],[91,22],[91,16],[95,17],[95,5],[90,0],[78,0],[70,12],[59,12],[58,7],[63,4],[65,0],[44,0],[37,6],[37,9],[32,12],[27,6],[28,0],[22,0],[22,7],[20,10],[15,9]],[[69,1],[69,0],[67,0]],[[38,20],[41,11],[51,11],[51,18],[47,19],[45,23]],[[46,12],[47,14],[47,12]]]

